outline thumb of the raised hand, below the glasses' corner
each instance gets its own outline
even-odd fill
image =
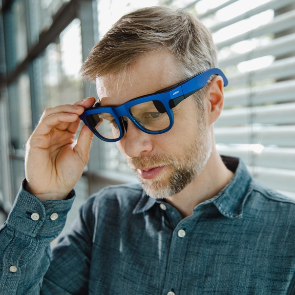
[[[80,131],[77,144],[73,149],[74,152],[76,152],[83,160],[84,165],[86,165],[89,159],[89,150],[93,135],[94,133],[86,125],[84,125]]]

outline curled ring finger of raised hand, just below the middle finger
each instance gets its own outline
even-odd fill
[[[34,133],[39,135],[48,134],[53,127],[58,126],[61,123],[71,123],[78,121],[79,117],[73,113],[55,113],[49,117],[42,119],[39,125],[36,127]]]

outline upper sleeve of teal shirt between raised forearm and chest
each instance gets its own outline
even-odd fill
[[[96,195],[81,206],[71,228],[53,248],[52,261],[44,276],[42,293],[59,295],[88,294],[93,232],[98,215]],[[63,278],[61,280],[61,278]]]

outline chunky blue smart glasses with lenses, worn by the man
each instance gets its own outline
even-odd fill
[[[153,94],[134,98],[119,106],[94,106],[85,109],[80,119],[100,139],[107,142],[120,140],[127,130],[127,118],[148,134],[167,132],[174,123],[173,107],[203,88],[212,75],[228,80],[218,68],[197,74],[179,84]]]

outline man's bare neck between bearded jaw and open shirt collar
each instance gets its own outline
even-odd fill
[[[231,181],[232,177],[232,171],[226,168],[214,147],[200,174],[178,194],[166,200],[185,218],[192,214],[198,204],[217,195]]]

